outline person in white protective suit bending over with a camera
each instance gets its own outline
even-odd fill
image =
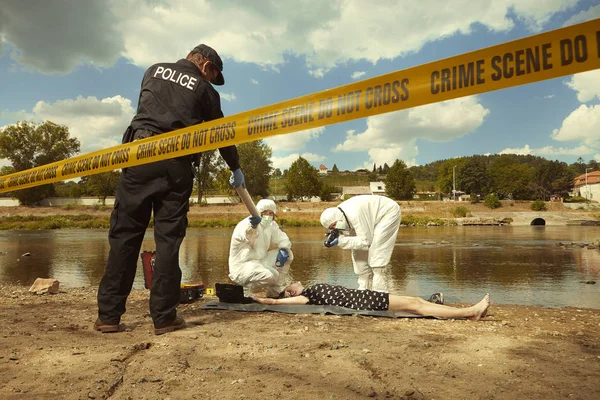
[[[383,196],[355,196],[323,211],[321,225],[329,229],[325,247],[352,249],[358,289],[388,292],[387,267],[400,227],[398,203]]]

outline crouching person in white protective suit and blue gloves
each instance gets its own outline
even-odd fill
[[[264,289],[267,297],[277,297],[289,283],[292,242],[274,221],[273,200],[260,200],[256,209],[261,218],[243,219],[231,236],[229,279],[244,286],[246,296]]]

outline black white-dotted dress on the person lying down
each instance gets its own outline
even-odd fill
[[[307,304],[340,306],[354,310],[384,311],[390,305],[390,295],[388,293],[348,289],[326,283],[318,283],[307,287],[301,295],[308,298]]]

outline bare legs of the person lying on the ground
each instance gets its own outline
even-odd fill
[[[430,303],[420,297],[390,295],[390,311],[407,311],[417,315],[440,318],[468,318],[479,321],[490,306],[490,295],[486,294],[481,301],[471,307],[455,308]]]

